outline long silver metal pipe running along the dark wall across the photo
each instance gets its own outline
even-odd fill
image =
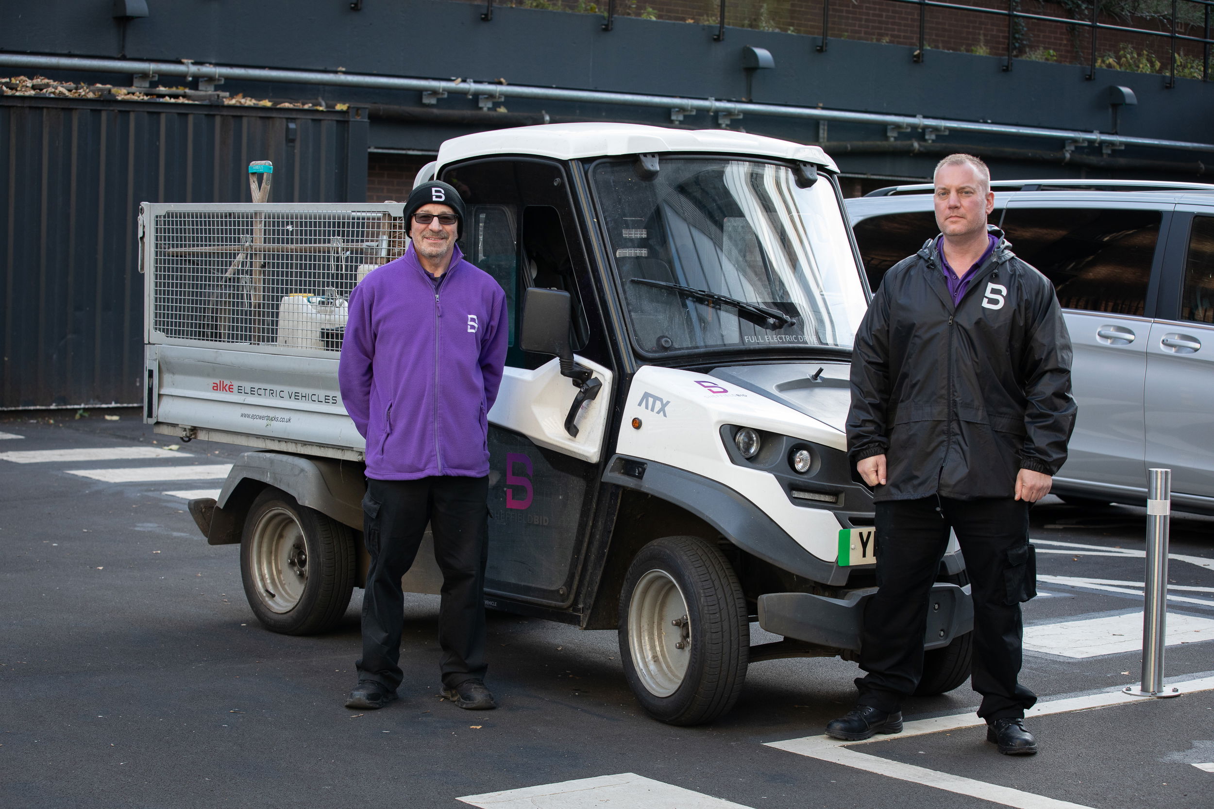
[[[234,81],[277,81],[297,85],[327,85],[336,87],[370,87],[375,90],[413,90],[418,92],[476,96],[511,96],[534,101],[563,101],[595,104],[620,104],[629,107],[654,107],[668,109],[693,109],[710,115],[717,113],[771,115],[812,121],[838,121],[844,124],[866,124],[873,126],[906,126],[915,130],[954,130],[959,132],[981,132],[983,135],[1003,135],[1009,137],[1048,138],[1054,141],[1076,141],[1093,147],[1139,146],[1158,149],[1179,149],[1186,152],[1214,152],[1214,143],[1191,141],[1167,141],[1162,138],[1129,137],[1105,132],[1083,132],[1078,130],[1055,130],[1039,126],[1014,126],[1009,124],[987,124],[985,121],[959,121],[923,115],[889,115],[878,113],[857,113],[841,109],[821,109],[817,107],[792,107],[784,104],[756,104],[745,102],[727,102],[715,98],[680,98],[676,96],[649,96],[630,92],[605,92],[599,90],[562,90],[558,87],[534,87],[527,85],[500,85],[490,82],[442,80],[442,79],[405,79],[402,76],[382,76],[358,73],[325,73],[322,70],[285,70],[279,68],[243,68],[195,64],[193,62],[136,62],[127,59],[106,59],[74,56],[35,56],[29,53],[0,53],[0,67],[34,68],[39,70],[83,70],[92,73],[124,73],[135,75],[169,75],[189,79],[228,79]]]

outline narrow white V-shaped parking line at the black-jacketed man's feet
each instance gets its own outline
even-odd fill
[[[1202,677],[1199,679],[1187,680],[1184,683],[1168,683],[1168,685],[1179,688],[1181,693],[1209,691],[1214,690],[1214,677]],[[1100,691],[1097,694],[1089,694],[1085,696],[1073,696],[1062,700],[1038,702],[1025,713],[1027,718],[1032,718],[1054,713],[1070,713],[1072,711],[1091,711],[1095,708],[1106,708],[1113,705],[1125,705],[1128,702],[1138,702],[1140,700],[1151,699],[1152,697],[1148,696],[1133,696],[1122,690]],[[798,753],[799,756],[809,756],[810,758],[816,758],[823,762],[832,762],[835,764],[843,764],[844,767],[875,773],[878,775],[886,775],[892,779],[898,779],[900,781],[910,781],[913,784],[931,786],[946,792],[955,792],[958,794],[966,794],[982,801],[989,801],[1005,807],[1015,807],[1016,809],[1093,809],[1091,807],[1085,807],[1079,803],[1057,801],[1055,798],[1048,798],[1043,794],[1025,792],[1023,790],[1014,790],[1011,787],[999,786],[998,784],[988,784],[976,779],[940,773],[937,770],[930,770],[925,767],[903,764],[902,762],[881,758],[880,756],[869,756],[868,753],[850,750],[850,747],[869,745],[875,741],[891,741],[896,739],[904,739],[907,736],[940,733],[942,730],[974,728],[982,724],[985,724],[985,722],[980,719],[977,714],[960,713],[951,717],[936,717],[934,719],[915,719],[913,722],[907,722],[903,725],[901,734],[894,736],[877,736],[866,741],[839,741],[836,739],[830,739],[829,736],[805,736],[802,739],[789,739],[788,741],[770,741],[766,742],[766,746],[788,751],[790,753]]]

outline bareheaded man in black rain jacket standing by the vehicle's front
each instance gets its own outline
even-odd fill
[[[1029,505],[1050,490],[1074,427],[1071,338],[1050,281],[987,224],[991,175],[936,167],[941,234],[891,268],[856,335],[847,443],[877,502],[878,593],[864,613],[856,708],[836,739],[902,730],[923,676],[927,599],[949,529],[974,596],[971,683],[999,752],[1036,753],[1017,683],[1020,603],[1036,594]]]

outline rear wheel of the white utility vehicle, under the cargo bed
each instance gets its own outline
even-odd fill
[[[316,634],[346,614],[354,588],[353,532],[285,491],[265,489],[240,540],[240,579],[261,625]]]

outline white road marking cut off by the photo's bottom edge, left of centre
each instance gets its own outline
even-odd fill
[[[600,775],[521,790],[487,792],[458,798],[473,807],[493,809],[749,809],[741,803],[692,792],[635,773]]]

